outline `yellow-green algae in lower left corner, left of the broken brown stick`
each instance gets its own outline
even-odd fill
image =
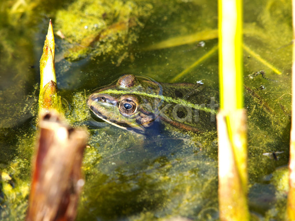
[[[15,157],[8,166],[0,165],[0,170],[11,178],[10,180],[0,179],[0,217],[1,220],[14,220],[18,217],[25,219],[28,208],[28,197],[30,188],[30,163],[34,149],[35,132],[29,130],[28,134],[22,134],[21,129],[14,131],[19,141],[14,145]],[[10,132],[11,133],[11,132]],[[6,141],[7,137],[6,137]]]

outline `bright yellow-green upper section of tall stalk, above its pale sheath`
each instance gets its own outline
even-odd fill
[[[242,2],[218,2],[220,108],[243,109]]]

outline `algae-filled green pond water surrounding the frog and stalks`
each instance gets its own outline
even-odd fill
[[[217,94],[217,2],[20,2],[0,3],[1,220],[24,219],[28,206],[39,59],[50,18],[67,121],[89,131],[77,220],[217,220],[215,131],[167,127],[147,138],[94,121],[86,107],[91,90],[126,73],[162,83],[202,81]],[[282,220],[285,213],[291,40],[290,1],[244,1],[248,198],[257,219]]]

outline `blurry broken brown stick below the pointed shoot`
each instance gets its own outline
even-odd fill
[[[48,113],[39,123],[27,221],[74,220],[84,185],[81,164],[87,133]]]

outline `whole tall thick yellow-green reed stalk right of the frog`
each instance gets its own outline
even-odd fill
[[[217,115],[219,214],[249,220],[243,109],[242,1],[218,0],[220,112]]]

